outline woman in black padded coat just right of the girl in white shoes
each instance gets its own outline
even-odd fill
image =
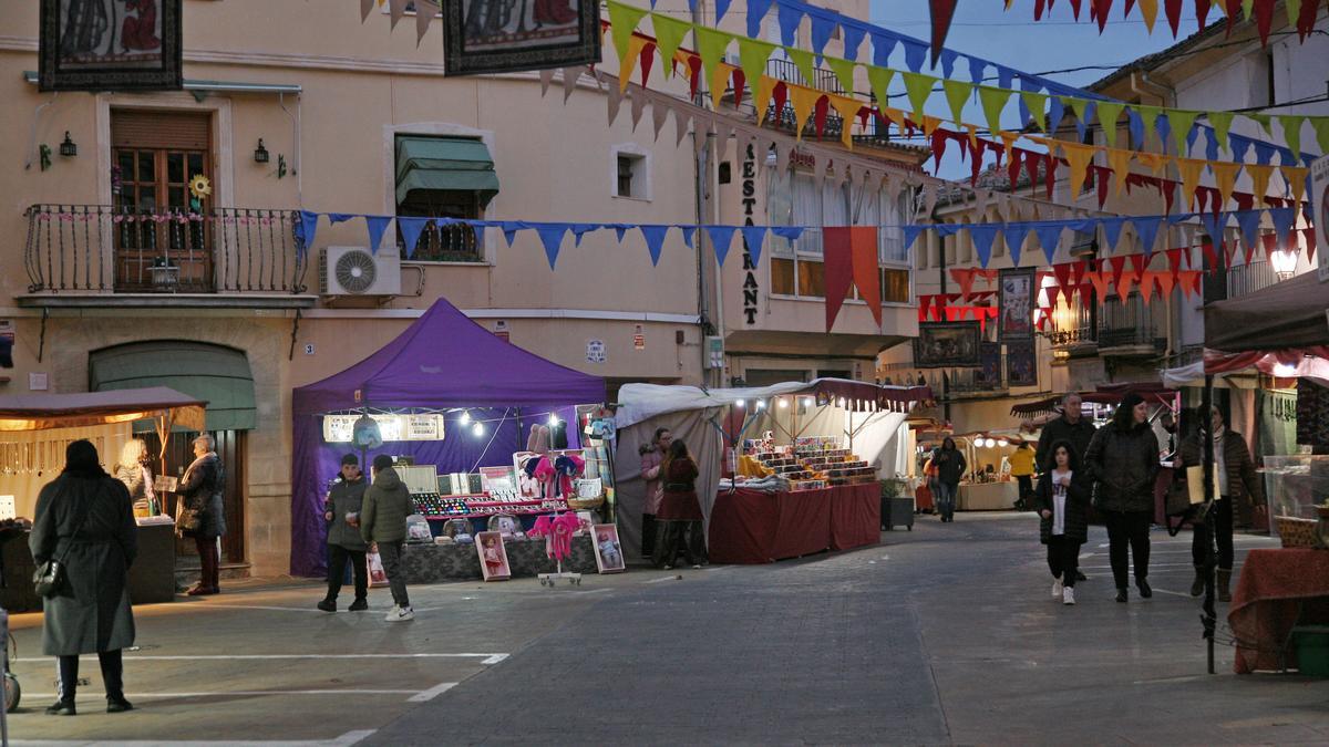
[[[1116,601],[1126,602],[1127,548],[1135,557],[1135,585],[1140,597],[1150,589],[1150,525],[1154,522],[1154,480],[1159,473],[1159,440],[1150,427],[1148,405],[1130,392],[1099,428],[1084,452],[1094,475],[1098,508],[1107,525],[1108,556],[1116,581]]]

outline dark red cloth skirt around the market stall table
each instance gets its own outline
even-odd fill
[[[711,509],[714,562],[762,564],[873,545],[880,540],[877,482],[816,490],[720,490]]]

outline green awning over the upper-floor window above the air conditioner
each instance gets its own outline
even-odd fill
[[[397,202],[415,189],[478,191],[480,206],[498,194],[489,149],[465,137],[399,137]]]

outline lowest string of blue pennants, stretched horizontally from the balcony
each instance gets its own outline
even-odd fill
[[[659,263],[664,241],[671,230],[676,230],[679,233],[683,243],[688,249],[695,249],[694,242],[696,231],[704,231],[707,238],[711,241],[711,246],[715,251],[715,259],[720,266],[724,265],[724,261],[730,254],[735,235],[742,237],[743,249],[751,255],[752,263],[758,265],[762,261],[762,253],[768,234],[793,242],[797,241],[805,231],[832,231],[852,227],[870,229],[873,231],[873,241],[876,241],[876,231],[898,229],[904,234],[904,246],[908,249],[913,246],[917,238],[925,231],[933,233],[938,238],[950,237],[960,231],[968,231],[970,241],[974,245],[978,262],[983,268],[986,268],[991,261],[993,245],[998,234],[1010,249],[1013,265],[1018,267],[1021,265],[1021,247],[1025,245],[1025,239],[1030,235],[1037,239],[1038,245],[1043,250],[1047,265],[1051,266],[1057,247],[1061,245],[1062,234],[1067,230],[1082,235],[1102,235],[1106,243],[1106,251],[1112,253],[1120,243],[1123,230],[1132,227],[1142,247],[1142,257],[1147,261],[1154,251],[1154,245],[1158,241],[1160,230],[1166,226],[1174,226],[1187,221],[1199,219],[1200,226],[1203,226],[1211,237],[1211,241],[1219,243],[1220,246],[1225,243],[1223,237],[1228,233],[1229,221],[1233,221],[1241,241],[1247,246],[1248,254],[1255,251],[1255,249],[1261,245],[1261,223],[1265,217],[1268,217],[1268,222],[1272,226],[1272,235],[1284,245],[1288,243],[1297,223],[1297,210],[1294,207],[1235,210],[1219,214],[1187,213],[1176,215],[1098,217],[1005,223],[896,223],[877,226],[731,226],[695,223],[480,221],[466,218],[415,218],[358,213],[318,213],[312,210],[300,210],[299,215],[300,219],[295,226],[295,238],[296,246],[302,254],[314,245],[318,234],[319,219],[322,217],[327,217],[330,225],[363,219],[368,234],[369,250],[373,253],[377,253],[379,246],[383,242],[383,235],[391,222],[396,221],[397,229],[401,231],[408,258],[415,257],[420,237],[428,227],[466,226],[477,233],[477,238],[482,238],[482,231],[485,229],[497,229],[502,231],[509,247],[516,242],[517,234],[524,231],[536,234],[545,250],[545,257],[549,261],[550,270],[556,268],[558,254],[569,234],[574,238],[574,246],[581,246],[581,241],[586,234],[606,230],[614,231],[619,243],[623,242],[629,231],[638,231],[646,243],[647,251],[650,253],[653,266]],[[1314,251],[1314,231],[1309,229],[1304,229],[1301,231],[1306,237],[1308,245],[1312,247],[1310,251]],[[1114,258],[1114,261],[1116,259],[1122,258]],[[1124,262],[1124,259],[1122,261]]]

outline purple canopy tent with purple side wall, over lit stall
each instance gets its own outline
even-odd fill
[[[605,380],[565,368],[498,339],[444,299],[395,340],[351,368],[299,387],[291,396],[291,574],[320,576],[324,565],[323,493],[350,444],[324,444],[322,416],[360,409],[466,408],[490,433],[472,437],[444,415],[443,441],[389,441],[379,452],[411,455],[440,472],[512,464],[526,428],[549,413],[605,401]],[[478,412],[477,412],[478,411]],[[575,423],[575,417],[565,417]],[[577,428],[567,429],[575,448]]]

